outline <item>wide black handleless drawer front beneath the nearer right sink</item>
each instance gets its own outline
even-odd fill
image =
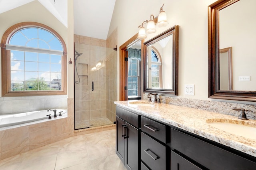
[[[172,128],[172,148],[210,170],[255,170],[256,163]]]

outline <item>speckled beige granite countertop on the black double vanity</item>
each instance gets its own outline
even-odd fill
[[[152,106],[133,105],[130,102],[147,103]],[[256,157],[255,136],[254,139],[245,138],[209,125],[211,122],[233,122],[256,127],[256,120],[243,121],[230,115],[145,100],[115,101],[114,103]]]

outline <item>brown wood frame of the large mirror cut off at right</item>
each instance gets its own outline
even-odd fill
[[[219,12],[239,0],[218,0],[208,6],[208,97],[238,101],[256,101],[256,91],[220,90]]]

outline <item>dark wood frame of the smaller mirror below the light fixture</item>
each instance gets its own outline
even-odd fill
[[[173,49],[172,49],[172,89],[150,89],[147,87],[148,84],[148,73],[147,73],[147,61],[148,61],[148,46],[156,43],[167,36],[173,34]],[[166,30],[165,32],[159,34],[158,36],[148,40],[143,44],[143,61],[144,61],[144,92],[145,93],[156,93],[162,95],[178,95],[178,35],[179,26],[173,26],[172,28]]]

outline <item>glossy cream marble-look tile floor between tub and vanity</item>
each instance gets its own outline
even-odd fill
[[[74,136],[0,160],[0,170],[126,170],[115,129]]]

